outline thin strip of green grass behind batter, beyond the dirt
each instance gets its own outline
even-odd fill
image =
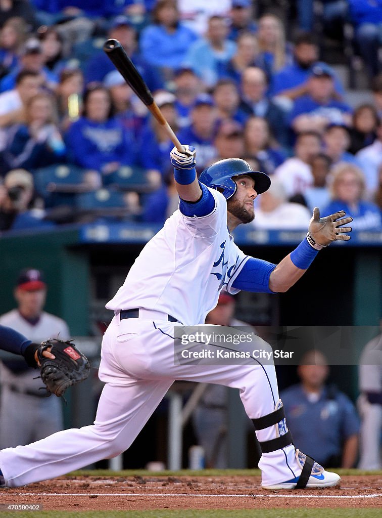
[[[362,469],[330,469],[339,475],[382,475],[382,470],[365,471]],[[260,476],[259,469],[201,469],[198,471],[181,469],[179,471],[148,471],[145,469],[125,469],[123,471],[110,471],[109,469],[79,470],[68,473],[68,476],[77,477],[250,477]]]

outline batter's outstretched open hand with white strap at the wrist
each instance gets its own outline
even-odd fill
[[[353,221],[350,216],[343,218],[345,214],[344,210],[340,210],[340,212],[320,218],[320,210],[318,207],[315,207],[309,223],[308,233],[306,234],[307,242],[316,250],[320,250],[323,247],[327,247],[332,241],[348,241],[350,236],[344,233],[351,232],[351,227],[339,228],[341,225],[346,225]]]

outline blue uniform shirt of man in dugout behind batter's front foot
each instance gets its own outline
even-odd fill
[[[310,402],[302,385],[293,385],[280,394],[287,426],[296,448],[325,465],[332,456],[341,456],[342,443],[359,430],[354,405],[342,392],[329,397],[325,388],[318,401]]]

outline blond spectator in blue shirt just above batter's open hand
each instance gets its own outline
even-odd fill
[[[352,218],[354,230],[380,231],[382,229],[379,207],[363,198],[365,177],[362,170],[353,164],[338,164],[331,175],[331,202],[322,209],[322,214],[334,214],[345,210]],[[332,212],[331,212],[332,211]]]

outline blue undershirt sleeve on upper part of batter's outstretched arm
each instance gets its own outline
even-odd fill
[[[248,292],[275,293],[269,289],[269,277],[275,268],[273,263],[249,257],[232,282],[232,287]]]

